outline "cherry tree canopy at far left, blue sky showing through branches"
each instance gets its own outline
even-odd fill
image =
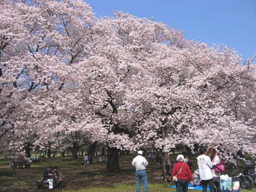
[[[1,13],[1,136],[37,133],[30,103],[61,91],[71,64],[87,57],[94,17],[81,1],[5,0]]]

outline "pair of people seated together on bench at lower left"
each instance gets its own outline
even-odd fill
[[[49,166],[47,169],[44,170],[44,181],[49,183],[49,189],[53,190],[53,183],[56,183],[57,188],[61,188],[61,174],[58,170],[57,166]]]

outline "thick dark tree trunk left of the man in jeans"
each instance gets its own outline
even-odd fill
[[[119,150],[116,147],[108,147],[108,159],[106,160],[107,172],[120,172],[119,167]]]

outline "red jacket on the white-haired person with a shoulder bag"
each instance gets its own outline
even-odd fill
[[[181,166],[182,166],[181,173],[178,174]],[[173,176],[175,175],[177,175],[178,179],[182,179],[185,181],[189,181],[189,180],[193,181],[193,176],[191,174],[190,168],[185,162],[175,163],[171,179],[173,179]]]

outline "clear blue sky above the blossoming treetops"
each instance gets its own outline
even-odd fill
[[[209,46],[224,44],[244,59],[256,54],[256,0],[84,0],[96,16],[119,10],[152,18]]]

